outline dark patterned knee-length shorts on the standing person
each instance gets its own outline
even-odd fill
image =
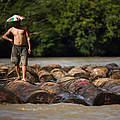
[[[19,65],[20,62],[22,65],[27,65],[28,64],[27,54],[28,52],[26,46],[13,45],[11,52],[11,62],[15,65]]]

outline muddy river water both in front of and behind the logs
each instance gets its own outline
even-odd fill
[[[116,63],[120,58],[29,58],[29,65],[105,65]],[[0,59],[0,64],[10,64],[9,59]],[[1,104],[0,120],[120,120],[120,105],[83,106],[80,104]]]

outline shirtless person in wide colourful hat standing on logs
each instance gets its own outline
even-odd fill
[[[10,41],[13,44],[11,52],[11,62],[15,65],[17,79],[20,80],[20,61],[22,63],[22,80],[26,81],[26,68],[28,64],[27,53],[31,54],[30,36],[26,26],[20,25],[20,21],[24,19],[22,16],[14,15],[7,20],[13,22],[14,26],[11,27],[3,36],[3,39]],[[13,34],[14,40],[8,37]],[[28,44],[28,49],[27,49]]]

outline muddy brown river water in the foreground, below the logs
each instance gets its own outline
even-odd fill
[[[0,105],[0,120],[120,120],[120,105]]]

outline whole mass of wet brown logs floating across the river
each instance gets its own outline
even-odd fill
[[[34,64],[27,81],[16,81],[12,65],[0,65],[0,103],[87,106],[120,104],[120,66],[116,63],[83,66]]]

